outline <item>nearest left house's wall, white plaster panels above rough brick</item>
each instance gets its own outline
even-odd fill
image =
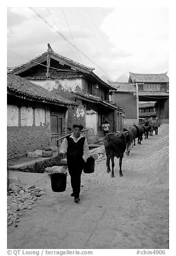
[[[43,103],[28,102],[8,96],[8,160],[25,157],[29,151],[42,150],[52,145],[50,109]],[[67,130],[66,108],[55,106],[63,117],[63,132]]]

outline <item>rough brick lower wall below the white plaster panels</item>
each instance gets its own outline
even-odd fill
[[[49,125],[8,127],[8,159],[51,145]]]

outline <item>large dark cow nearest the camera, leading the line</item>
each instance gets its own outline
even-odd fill
[[[106,151],[106,165],[107,165],[107,173],[111,172],[111,168],[109,166],[110,159],[112,163],[112,173],[111,177],[114,177],[114,157],[119,158],[119,174],[122,174],[122,159],[123,154],[126,151],[126,136],[128,132],[119,132],[119,133],[109,133],[105,135],[104,138],[104,146]]]

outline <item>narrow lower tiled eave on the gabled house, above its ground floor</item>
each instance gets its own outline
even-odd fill
[[[100,103],[102,105],[105,105],[111,109],[119,109],[119,110],[123,110],[122,107],[120,106],[116,106],[114,104],[111,104],[111,103],[108,103],[106,101],[103,101],[100,97],[97,97],[97,96],[94,96],[92,94],[89,94],[89,93],[83,93],[83,92],[80,92],[80,91],[75,91],[74,92],[75,94],[79,95],[79,96],[82,96],[84,98],[87,98],[87,99],[90,99],[90,101],[93,101],[95,103]]]

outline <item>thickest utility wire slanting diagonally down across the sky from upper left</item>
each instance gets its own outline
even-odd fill
[[[69,42],[70,45],[72,45],[74,48],[76,48],[80,53],[82,53],[88,60],[90,60],[94,65],[96,65],[102,72],[104,72],[106,75],[109,76],[109,74],[107,74],[105,72],[105,70],[103,70],[100,66],[98,66],[93,60],[91,60],[87,55],[85,55],[82,51],[80,51],[80,49],[78,49],[74,44],[72,44],[72,42],[70,42],[61,32],[57,31],[49,22],[47,22],[47,20],[45,20],[41,15],[39,15],[38,12],[36,12],[33,8],[29,7],[29,9],[31,11],[33,11],[40,19],[43,20],[43,22],[45,22],[49,27],[51,27],[57,34],[61,35],[62,38],[64,38],[65,41]],[[109,76],[110,77],[110,76]]]

